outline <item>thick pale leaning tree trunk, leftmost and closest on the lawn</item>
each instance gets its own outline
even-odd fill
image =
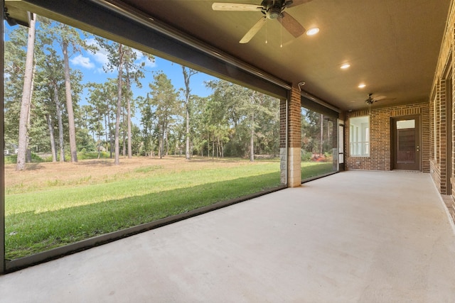
[[[23,90],[21,100],[21,114],[19,116],[19,138],[16,170],[25,170],[26,168],[26,148],[27,148],[27,120],[28,111],[30,111],[31,84],[33,77],[33,53],[35,48],[35,23],[36,14],[33,13],[28,28],[28,43],[25,74],[23,77]]]

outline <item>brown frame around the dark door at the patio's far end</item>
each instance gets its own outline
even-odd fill
[[[422,172],[422,119],[421,115],[408,115],[408,116],[395,116],[390,118],[390,170],[405,170],[402,168],[397,168],[397,163],[395,159],[395,155],[397,154],[397,128],[396,128],[396,121],[401,120],[410,120],[414,119],[416,121],[415,128],[418,132],[418,136],[416,138],[416,148],[418,148],[418,153],[416,153],[416,164],[418,165],[416,172]]]

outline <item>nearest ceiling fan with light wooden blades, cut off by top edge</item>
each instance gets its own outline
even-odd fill
[[[291,35],[295,38],[305,33],[305,28],[301,26],[299,21],[296,21],[284,9],[304,4],[311,0],[263,0],[260,5],[256,4],[240,4],[240,3],[218,3],[212,4],[213,11],[260,11],[262,16],[257,23],[255,23],[250,31],[248,31],[240,43],[248,43],[256,33],[264,26],[267,19],[277,20],[282,23]]]

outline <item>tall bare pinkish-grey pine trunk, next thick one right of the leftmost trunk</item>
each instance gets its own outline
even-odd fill
[[[71,96],[70,62],[68,60],[68,42],[62,43],[65,66],[66,111],[68,111],[68,131],[70,132],[71,162],[77,162],[76,127],[74,123],[73,97]]]

